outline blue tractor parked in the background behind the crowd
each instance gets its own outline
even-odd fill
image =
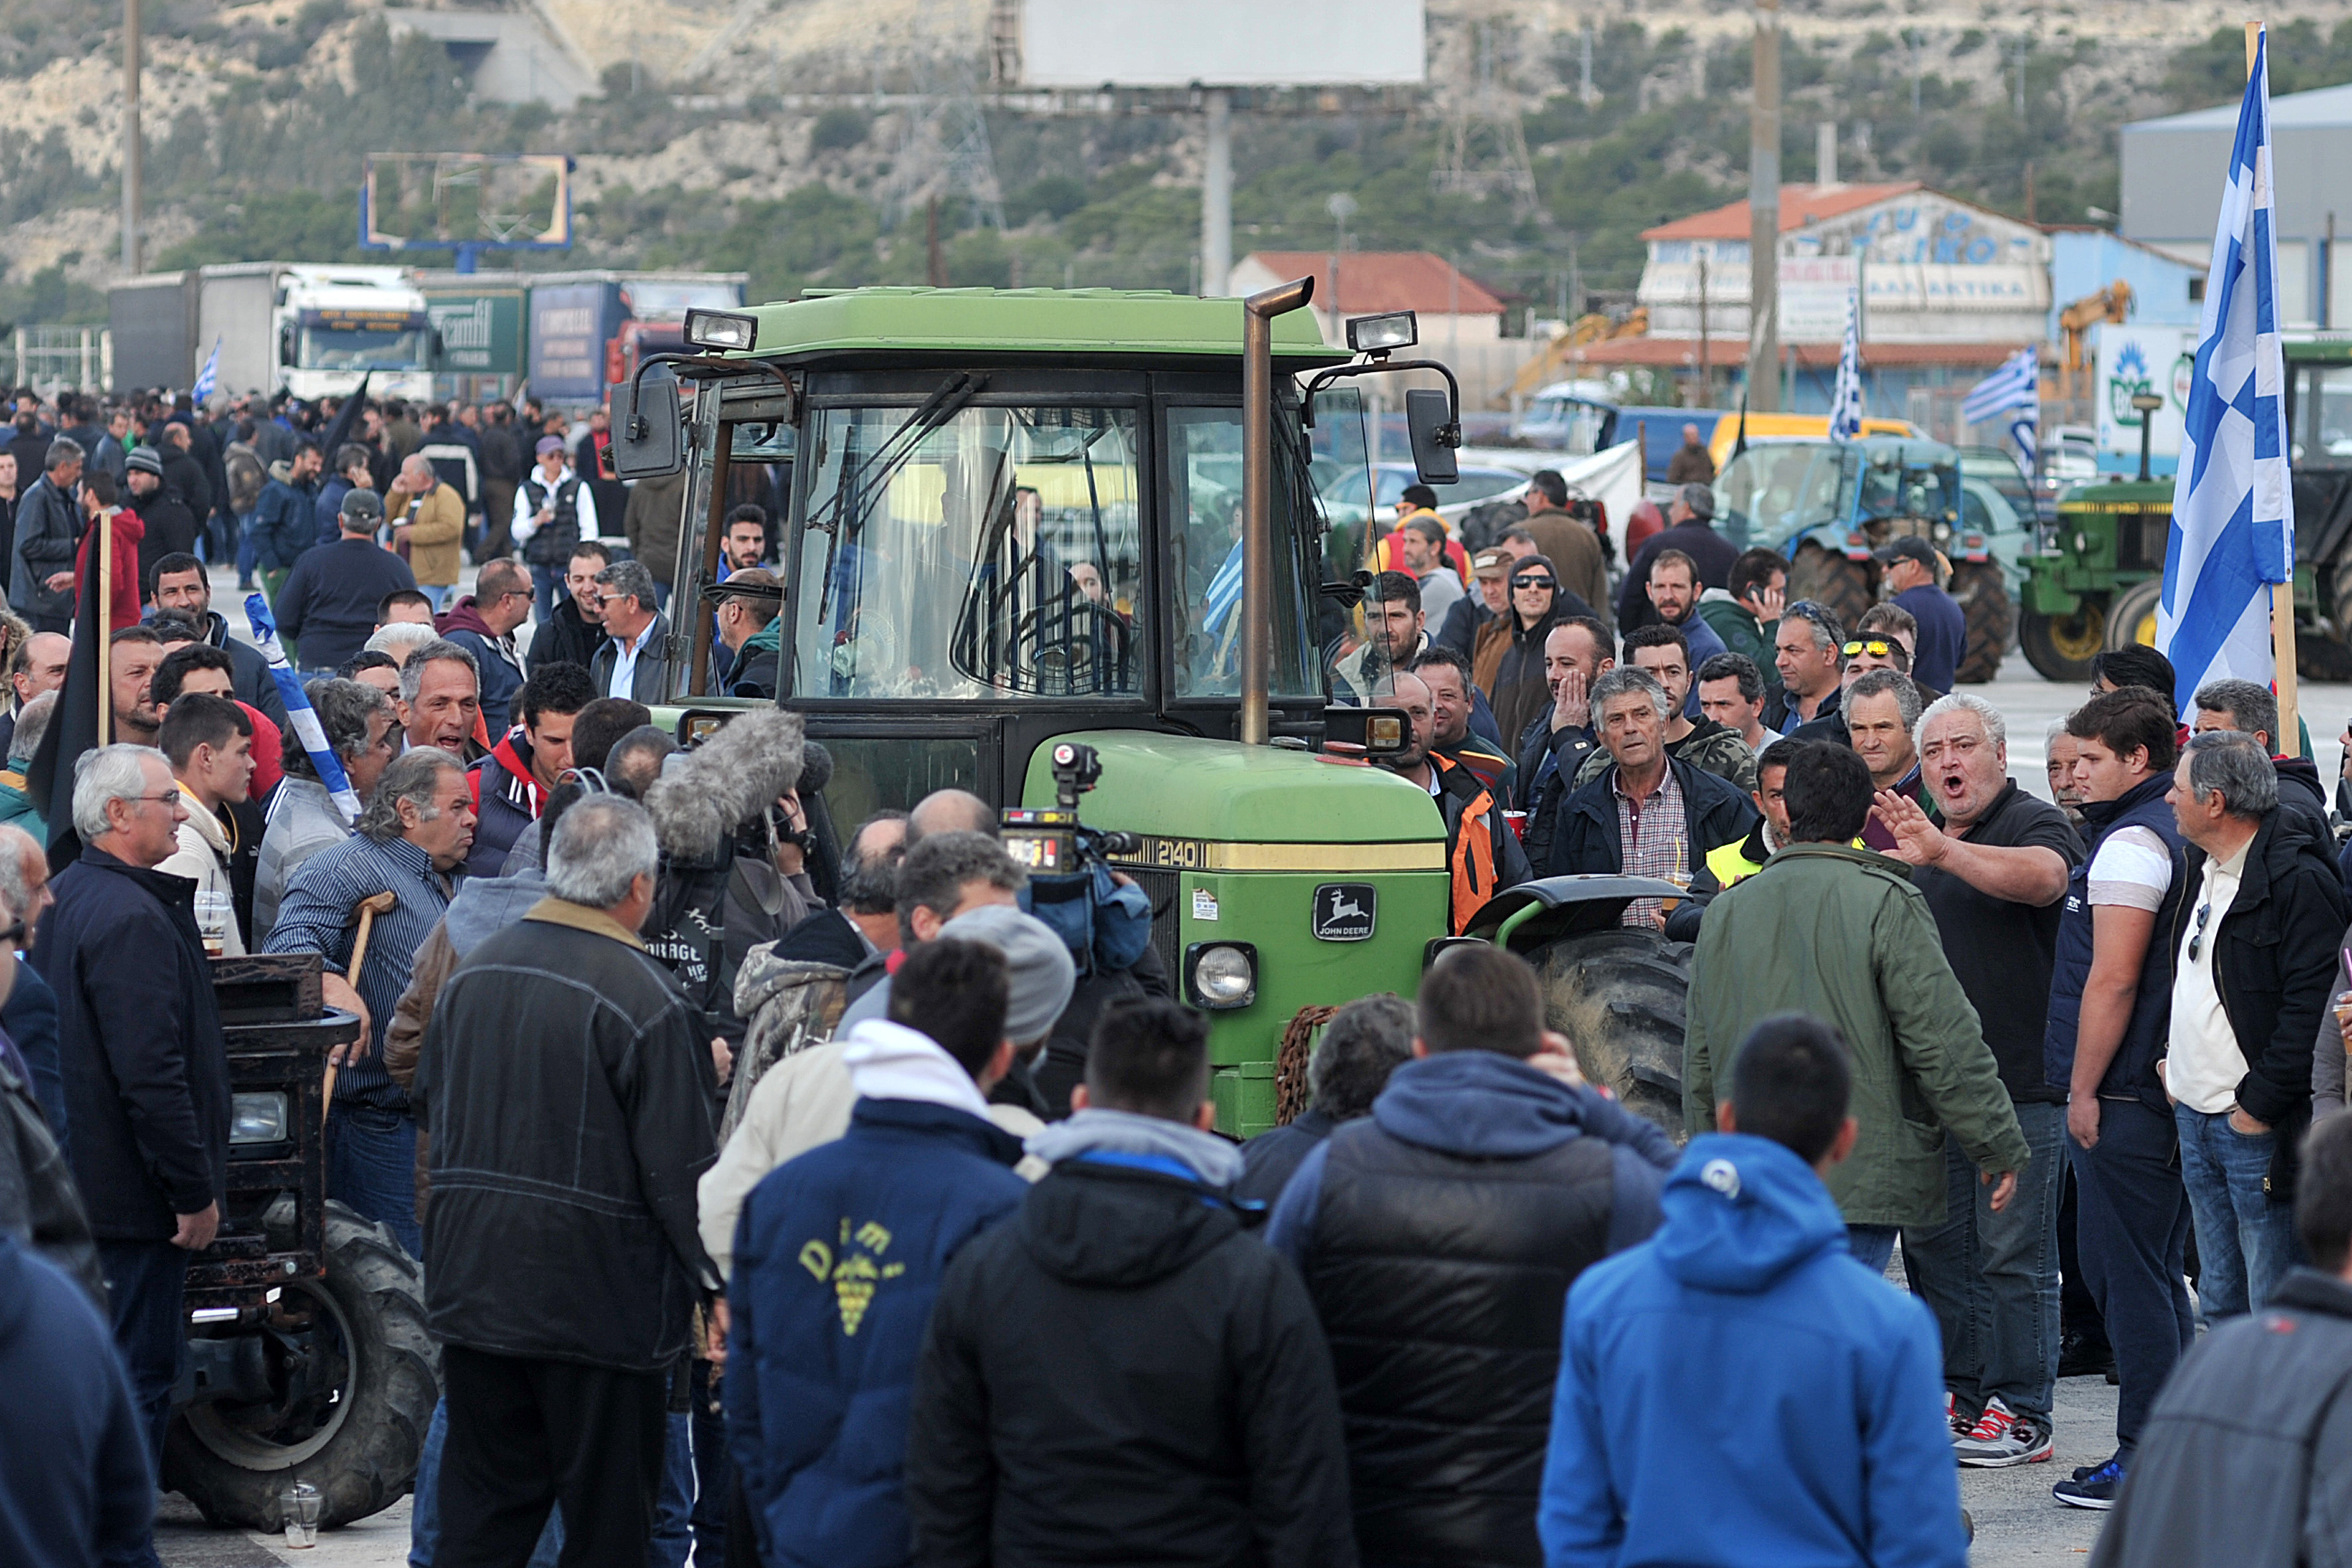
[[[1715,480],[1717,527],[1748,550],[1788,557],[1788,597],[1828,604],[1849,630],[1879,599],[1872,552],[1905,534],[1936,545],[1969,618],[1962,682],[1987,682],[2009,651],[2013,592],[2034,543],[2030,520],[1962,454],[1910,435],[1755,442]]]

